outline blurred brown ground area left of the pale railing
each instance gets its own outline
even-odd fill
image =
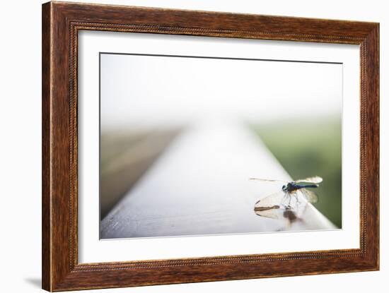
[[[124,131],[123,131],[124,132]],[[105,133],[100,137],[100,218],[105,217],[178,130],[155,133]]]

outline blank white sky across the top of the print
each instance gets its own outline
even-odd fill
[[[101,54],[101,127],[340,114],[342,64]]]

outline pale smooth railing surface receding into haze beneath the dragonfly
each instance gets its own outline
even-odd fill
[[[301,218],[292,222],[256,215],[255,202],[281,186],[250,177],[291,179],[247,127],[192,126],[103,219],[100,238],[335,228],[306,202],[298,207]]]

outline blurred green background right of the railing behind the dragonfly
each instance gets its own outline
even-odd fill
[[[263,143],[293,179],[318,175],[315,207],[342,227],[342,120],[341,116],[278,121],[252,126]]]

